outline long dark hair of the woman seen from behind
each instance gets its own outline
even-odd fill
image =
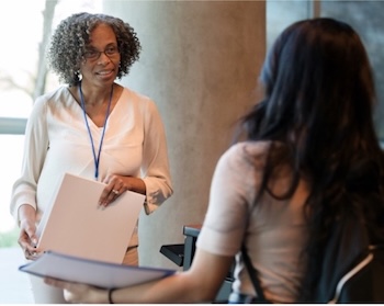
[[[280,165],[289,165],[289,199],[301,179],[309,239],[302,301],[319,273],[332,219],[362,205],[365,219],[383,224],[384,159],[372,111],[375,89],[370,61],[353,29],[334,19],[300,21],[276,39],[261,71],[264,99],[242,118],[247,139],[272,140],[259,194]],[[273,195],[273,194],[272,194]],[[380,219],[381,218],[381,219]]]

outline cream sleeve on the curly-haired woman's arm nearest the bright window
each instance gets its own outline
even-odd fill
[[[36,189],[48,149],[48,131],[46,124],[46,101],[37,99],[25,127],[24,152],[21,175],[12,186],[10,212],[19,222],[19,207],[23,204],[36,211]]]

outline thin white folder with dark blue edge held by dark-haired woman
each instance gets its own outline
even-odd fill
[[[50,276],[104,288],[132,286],[176,272],[167,269],[84,260],[57,252],[46,252],[36,261],[21,265],[19,270],[37,276]]]

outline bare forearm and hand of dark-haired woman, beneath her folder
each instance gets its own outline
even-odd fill
[[[231,262],[231,257],[197,249],[190,270],[159,281],[115,290],[111,297],[115,304],[211,302],[223,284]],[[45,279],[45,282],[64,288],[65,298],[71,303],[109,303],[108,290],[54,279]]]

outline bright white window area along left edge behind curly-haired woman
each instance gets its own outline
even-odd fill
[[[71,13],[100,12],[101,3],[101,0],[18,0],[0,4],[0,304],[33,303],[27,276],[18,271],[24,261],[16,246],[19,230],[9,213],[9,203],[21,169],[25,123],[34,97],[58,84],[49,73],[38,78],[38,72],[42,76],[45,71],[37,68],[39,46],[44,50],[50,36],[43,34],[44,18],[53,16],[49,27],[53,29]],[[42,79],[46,81],[43,87],[38,86]],[[4,248],[10,246],[15,247]]]

